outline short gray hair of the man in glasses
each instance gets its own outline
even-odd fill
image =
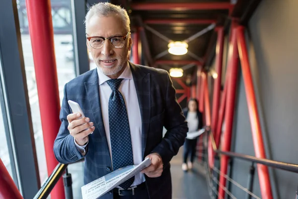
[[[113,13],[120,15],[126,31],[130,32],[130,19],[127,11],[124,8],[121,8],[119,5],[114,5],[109,2],[99,2],[90,7],[85,16],[85,30],[87,29],[87,22],[93,15],[110,16]]]

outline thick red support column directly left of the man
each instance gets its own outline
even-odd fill
[[[53,145],[61,124],[51,4],[50,0],[26,0],[26,6],[47,168],[50,176],[58,164],[54,156]],[[62,179],[51,192],[51,198],[65,198]]]

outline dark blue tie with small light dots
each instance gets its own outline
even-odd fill
[[[112,148],[113,170],[134,164],[132,140],[128,123],[125,101],[118,88],[123,79],[111,79],[107,84],[112,89],[109,99],[109,126]],[[135,180],[130,178],[120,185],[129,188]]]

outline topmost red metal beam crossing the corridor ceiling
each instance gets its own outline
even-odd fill
[[[197,2],[197,3],[132,3],[132,10],[210,10],[230,9],[229,2]]]

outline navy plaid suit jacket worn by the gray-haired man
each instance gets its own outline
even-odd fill
[[[146,185],[151,199],[171,199],[170,160],[184,143],[187,122],[175,98],[175,90],[166,71],[130,63],[142,117],[143,159],[157,152],[164,170],[158,178],[146,175]],[[99,84],[96,69],[88,71],[65,85],[59,133],[54,143],[57,160],[64,164],[83,158],[76,149],[74,138],[68,130],[67,115],[72,113],[68,100],[76,101],[86,117],[94,122],[95,130],[89,135],[84,156],[84,184],[111,172],[112,162],[101,114]],[[106,115],[104,115],[106,116]],[[163,126],[167,133],[162,137]],[[113,199],[111,193],[102,197]]]

